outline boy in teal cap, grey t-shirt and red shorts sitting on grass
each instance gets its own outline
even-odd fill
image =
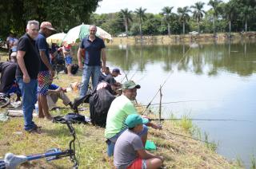
[[[132,114],[127,116],[128,129],[119,136],[114,146],[114,166],[119,168],[158,168],[162,166],[163,157],[146,151],[138,133],[148,119]]]

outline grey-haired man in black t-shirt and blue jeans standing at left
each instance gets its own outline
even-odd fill
[[[34,38],[38,37],[39,23],[29,21],[26,33],[18,41],[16,79],[22,91],[24,129],[27,132],[40,132],[33,122],[33,109],[37,101],[38,71],[40,58]]]

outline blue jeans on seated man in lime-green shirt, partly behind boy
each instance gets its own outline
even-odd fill
[[[122,132],[125,132],[127,129],[122,130],[121,132],[118,132],[118,134],[116,134],[115,136],[111,137],[110,139],[108,139],[107,142],[107,155],[110,157],[112,155],[114,155],[114,145],[115,142],[117,142],[118,137],[122,135]],[[145,124],[143,124],[143,129],[142,132],[138,133],[138,136],[142,137],[145,136],[147,134],[148,128]]]

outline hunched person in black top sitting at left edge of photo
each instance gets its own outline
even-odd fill
[[[18,83],[16,83],[15,73],[17,69],[17,52],[10,54],[10,61],[6,61],[0,64],[0,92],[10,94],[16,93],[17,101],[20,100],[22,96],[21,90],[18,88]]]

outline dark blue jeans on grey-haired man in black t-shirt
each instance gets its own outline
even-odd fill
[[[18,86],[22,91],[22,110],[24,117],[24,129],[30,130],[35,127],[33,122],[34,104],[37,102],[38,80],[31,79],[30,83],[24,83],[23,79],[17,78]]]

